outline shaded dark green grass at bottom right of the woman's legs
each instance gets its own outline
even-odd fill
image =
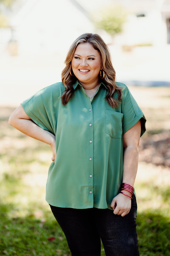
[[[140,256],[170,256],[170,218],[151,209],[139,213],[137,233]]]

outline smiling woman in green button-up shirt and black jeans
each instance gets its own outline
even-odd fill
[[[138,256],[134,182],[145,117],[116,83],[107,45],[86,33],[69,49],[62,82],[40,90],[9,123],[51,145],[46,201],[72,255]]]

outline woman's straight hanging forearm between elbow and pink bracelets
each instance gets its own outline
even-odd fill
[[[134,185],[138,168],[139,151],[138,146],[130,145],[124,150],[123,157],[123,183]]]

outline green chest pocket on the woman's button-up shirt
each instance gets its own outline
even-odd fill
[[[112,138],[121,138],[123,114],[112,110],[105,110],[105,116],[105,133],[109,134]]]

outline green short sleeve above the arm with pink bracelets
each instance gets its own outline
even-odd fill
[[[136,100],[133,98],[132,94],[128,90],[127,87],[123,89],[123,96],[122,96],[122,113],[123,113],[123,120],[122,120],[122,129],[123,134],[128,131],[130,128],[133,127],[139,120],[141,120],[141,136],[146,131],[145,128],[145,116],[142,110],[139,108]]]

